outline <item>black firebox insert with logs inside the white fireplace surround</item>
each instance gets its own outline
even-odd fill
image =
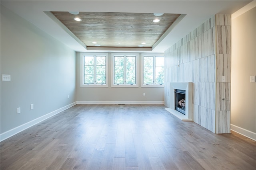
[[[175,89],[175,110],[186,115],[186,90]]]

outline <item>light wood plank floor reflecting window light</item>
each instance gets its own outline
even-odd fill
[[[163,105],[76,105],[1,142],[1,170],[255,170],[256,143]]]

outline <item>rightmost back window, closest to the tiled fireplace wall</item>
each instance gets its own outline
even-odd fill
[[[164,86],[164,55],[142,54],[142,87]]]

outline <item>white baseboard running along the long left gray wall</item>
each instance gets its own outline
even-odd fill
[[[72,106],[76,105],[76,102],[72,103],[72,104],[68,104],[67,106],[64,106],[60,109],[57,109],[55,111],[52,111],[46,115],[43,115],[41,117],[38,117],[32,121],[29,121],[27,123],[24,123],[23,125],[20,125],[18,127],[15,127],[9,131],[6,131],[2,134],[0,134],[0,141],[4,141],[5,139],[8,139],[9,137],[12,137],[13,135],[16,135],[17,133],[20,133],[21,131],[24,131],[25,129],[28,129],[29,127],[32,127],[34,125],[36,125],[37,123],[40,123],[41,121],[44,121],[45,119],[48,119]]]

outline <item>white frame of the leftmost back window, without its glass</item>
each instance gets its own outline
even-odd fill
[[[94,84],[84,84],[84,56],[106,56],[106,84],[96,84],[95,69],[94,68]],[[95,61],[94,61],[95,62]],[[80,87],[108,87],[108,53],[80,53]]]

